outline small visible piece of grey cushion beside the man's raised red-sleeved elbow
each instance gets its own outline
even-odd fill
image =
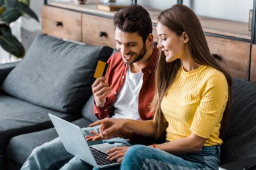
[[[91,95],[88,101],[86,101],[86,104],[82,109],[82,116],[91,122],[96,122],[98,120],[94,114],[94,95]]]

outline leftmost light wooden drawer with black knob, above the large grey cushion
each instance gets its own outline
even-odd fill
[[[60,9],[57,7],[42,6],[42,32],[50,36],[82,41],[82,14]]]

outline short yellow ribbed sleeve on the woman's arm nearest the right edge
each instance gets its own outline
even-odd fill
[[[222,74],[212,75],[201,88],[201,101],[191,124],[191,132],[203,138],[210,138],[214,128],[220,124],[226,102],[228,83]]]

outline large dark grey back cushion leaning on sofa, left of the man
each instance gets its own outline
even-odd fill
[[[3,91],[59,112],[79,112],[92,94],[98,60],[113,49],[42,35],[3,82]]]

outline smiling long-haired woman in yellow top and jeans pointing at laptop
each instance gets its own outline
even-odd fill
[[[154,120],[99,120],[107,138],[120,128],[166,142],[131,146],[121,169],[218,169],[220,132],[228,118],[231,78],[210,54],[199,19],[189,7],[160,13]]]

